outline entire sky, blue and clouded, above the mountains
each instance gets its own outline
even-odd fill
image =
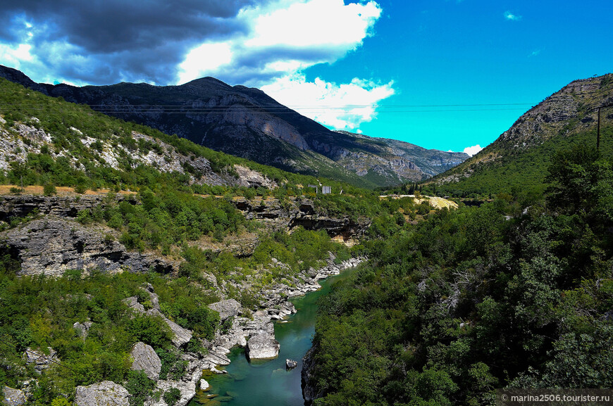
[[[259,87],[332,129],[474,153],[613,71],[600,1],[3,0],[0,64],[37,82]]]

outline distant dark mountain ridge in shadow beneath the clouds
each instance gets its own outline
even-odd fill
[[[167,87],[144,83],[73,87],[38,84],[3,66],[0,77],[216,151],[361,186],[428,179],[468,158],[465,153],[333,132],[259,89],[231,87],[212,77]]]

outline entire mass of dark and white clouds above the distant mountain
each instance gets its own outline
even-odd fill
[[[105,16],[113,15],[108,2],[97,1]],[[0,63],[23,70],[37,82],[79,85],[181,84],[213,76],[229,84],[259,87],[280,103],[335,129],[358,129],[361,122],[376,118],[378,102],[394,94],[393,82],[380,83],[378,78],[342,83],[324,77],[307,82],[304,74],[314,65],[344,58],[374,34],[383,13],[376,0],[218,2],[231,12],[209,10],[203,18],[193,15],[192,1],[177,3],[185,7],[164,12],[151,9],[151,21],[166,22],[154,25],[159,29],[151,32],[121,23],[117,23],[120,32],[109,30],[108,19],[93,13],[92,7],[70,8],[70,15],[49,18],[49,13],[32,11],[31,20],[18,17],[12,23],[17,42],[0,41]],[[131,10],[130,4],[122,7]],[[87,30],[82,31],[85,26]],[[138,35],[131,35],[134,32]],[[147,33],[151,38],[142,37]],[[157,41],[161,37],[167,40]]]

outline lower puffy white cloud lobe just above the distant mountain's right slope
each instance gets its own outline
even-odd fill
[[[354,78],[335,84],[317,77],[307,82],[302,74],[281,77],[261,89],[279,103],[323,125],[354,130],[376,118],[377,103],[394,94],[393,82],[377,84]]]

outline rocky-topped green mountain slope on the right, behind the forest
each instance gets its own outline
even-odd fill
[[[427,184],[453,196],[509,193],[545,187],[547,166],[557,151],[576,144],[613,156],[613,74],[575,80],[538,103],[496,141]]]

